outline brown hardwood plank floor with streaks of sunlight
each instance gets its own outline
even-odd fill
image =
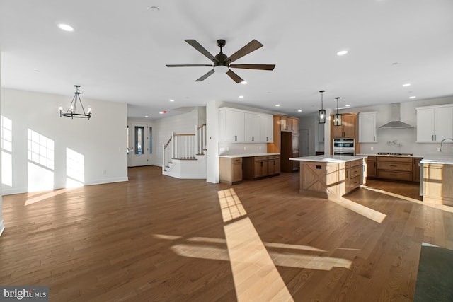
[[[50,301],[412,301],[421,243],[453,249],[452,211],[416,185],[337,203],[300,195],[299,173],[129,177],[4,196],[0,284],[50,286]]]

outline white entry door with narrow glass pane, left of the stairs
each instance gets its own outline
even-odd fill
[[[132,123],[128,128],[129,156],[127,165],[129,167],[152,165],[153,135],[151,125]]]

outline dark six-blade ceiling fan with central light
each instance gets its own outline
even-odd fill
[[[220,47],[220,52],[215,57],[208,52],[205,47],[202,47],[200,43],[196,40],[185,40],[188,44],[192,45],[195,50],[198,50],[202,54],[205,55],[208,59],[212,61],[212,64],[176,64],[176,65],[166,65],[167,67],[213,67],[210,71],[207,71],[206,74],[200,76],[199,79],[195,80],[196,82],[201,82],[205,80],[208,76],[214,74],[214,72],[218,72],[221,74],[227,74],[233,81],[236,83],[241,83],[244,80],[238,76],[234,71],[230,68],[241,68],[241,69],[260,69],[260,70],[273,70],[275,64],[231,64],[237,59],[249,54],[258,48],[262,47],[263,44],[258,42],[257,40],[251,40],[248,42],[247,45],[243,46],[240,50],[231,54],[231,56],[227,57],[226,54],[222,52],[222,48],[225,46],[225,40],[217,40],[217,46]]]

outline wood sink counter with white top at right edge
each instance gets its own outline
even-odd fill
[[[453,206],[453,156],[425,156],[420,165],[423,202]]]

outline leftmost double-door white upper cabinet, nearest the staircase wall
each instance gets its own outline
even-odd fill
[[[245,141],[245,113],[237,110],[219,110],[220,141]]]

